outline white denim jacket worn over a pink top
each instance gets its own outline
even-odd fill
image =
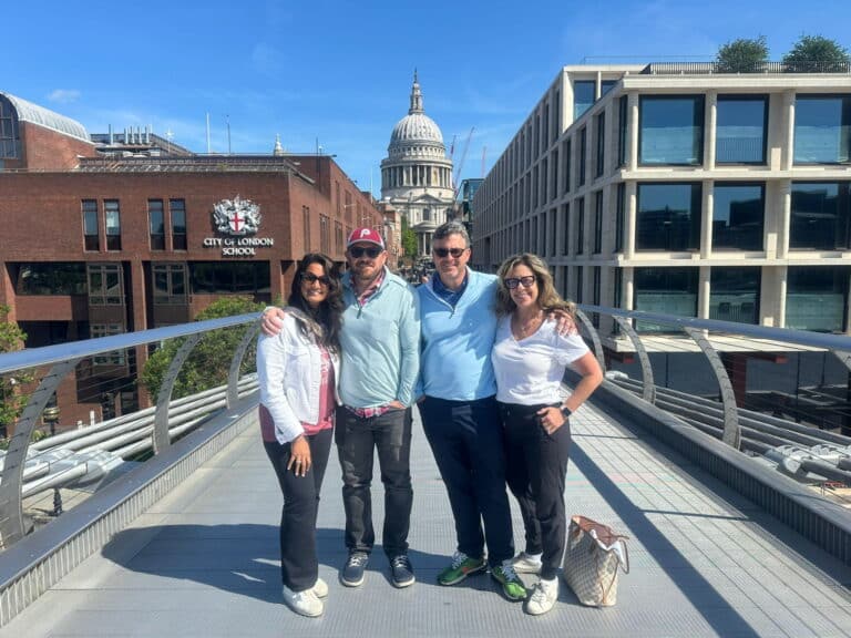
[[[283,445],[304,433],[301,422],[319,421],[319,389],[322,356],[319,347],[304,335],[299,322],[310,321],[295,308],[287,308],[284,327],[275,337],[260,335],[257,342],[257,377],[260,403],[275,422],[275,436]],[[330,353],[337,403],[340,360]]]

